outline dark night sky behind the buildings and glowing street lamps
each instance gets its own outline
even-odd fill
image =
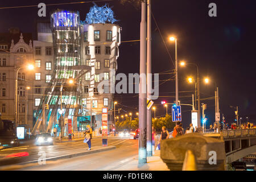
[[[1,1],[0,7],[38,5],[38,3],[63,3],[61,1]],[[77,2],[77,1],[73,1]],[[208,5],[217,4],[217,17],[208,16]],[[115,18],[122,27],[121,41],[139,39],[141,11],[126,3],[121,5],[118,0],[108,2],[113,6]],[[104,5],[105,3],[97,3]],[[220,110],[226,120],[234,120],[234,110],[229,105],[238,106],[239,114],[248,116],[254,123],[256,116],[255,88],[255,42],[256,42],[256,11],[255,0],[152,0],[152,14],[166,40],[167,47],[175,58],[174,44],[168,42],[170,35],[176,35],[178,42],[178,60],[186,60],[199,65],[200,78],[209,77],[211,82],[200,84],[201,98],[213,97],[215,82],[219,88]],[[47,16],[54,9],[78,10],[81,20],[84,20],[92,3],[75,5],[47,6]],[[37,7],[20,9],[0,9],[0,32],[7,32],[9,27],[19,27],[22,32],[35,32],[35,21],[39,18]],[[122,43],[118,59],[119,73],[139,72],[139,42]],[[152,19],[152,72],[159,73],[174,69],[172,61],[160,38]],[[160,80],[166,80],[172,75],[161,75]],[[196,77],[196,67],[187,65],[180,68],[179,90],[180,101],[191,104],[194,86],[188,84],[187,77]],[[175,82],[167,81],[160,86],[160,98],[155,101],[156,115],[163,115],[165,108],[160,101],[174,102]],[[191,91],[191,92],[184,92]],[[132,94],[116,96],[122,109],[128,113],[138,111],[138,97]],[[203,101],[207,104],[205,111],[208,123],[214,120],[214,100]],[[169,108],[171,111],[171,109]],[[183,106],[182,115],[185,126],[191,120],[191,107]],[[125,114],[125,113],[123,113]],[[245,119],[242,119],[244,122]]]

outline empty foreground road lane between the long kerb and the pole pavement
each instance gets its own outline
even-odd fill
[[[94,139],[93,143],[97,144],[101,142],[99,140],[100,139]],[[70,159],[47,161],[44,165],[28,164],[23,166],[16,166],[15,168],[10,169],[19,171],[109,171],[115,170],[115,168],[125,165],[129,160],[135,158],[135,156],[138,155],[138,140],[113,138],[109,139],[109,146],[116,146],[116,149],[78,156]]]

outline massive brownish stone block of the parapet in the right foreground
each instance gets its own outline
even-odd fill
[[[226,156],[223,140],[204,137],[200,133],[189,133],[162,140],[160,148],[160,157],[170,170],[182,170],[185,153],[188,150],[195,155],[197,170],[225,170]]]

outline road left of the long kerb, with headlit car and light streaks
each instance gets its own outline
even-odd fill
[[[5,169],[4,167],[6,165],[8,165],[10,169],[20,169],[20,168],[26,168],[27,166],[36,166],[38,164],[22,164],[22,163],[30,162],[32,160],[38,160],[38,158],[40,157],[39,152],[42,152],[42,151],[46,154],[46,158],[51,158],[51,157],[67,154],[67,152],[72,152],[74,150],[79,150],[79,149],[86,150],[88,148],[88,145],[86,143],[83,143],[82,140],[83,139],[79,139],[79,140],[76,140],[75,142],[61,142],[61,143],[55,142],[53,146],[36,146],[34,144],[34,141],[31,141],[31,142],[23,143],[20,145],[20,147],[17,147],[17,148],[0,150],[0,156],[7,156],[7,155],[15,154],[18,152],[27,152],[29,154],[29,156],[25,156],[25,157],[14,159],[14,160],[0,160],[0,169],[1,170]],[[125,145],[125,143],[127,143],[128,140],[130,140],[130,142],[132,141],[131,143],[138,144],[138,140],[133,140],[129,138],[109,137],[108,146],[116,146],[118,149],[120,147],[123,147],[123,145]],[[130,142],[128,142],[128,144]],[[94,147],[96,148],[99,146],[102,146],[102,138],[101,137],[93,138],[92,150]],[[108,151],[108,152],[111,152],[111,151]],[[104,152],[100,152],[100,154],[101,153],[104,153]],[[96,155],[96,154],[90,154],[90,155]],[[51,163],[51,161],[47,163]],[[54,163],[56,163],[56,161]]]

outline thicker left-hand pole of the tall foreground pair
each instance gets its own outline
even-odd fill
[[[141,38],[140,38],[140,79],[139,79],[139,164],[147,163],[147,93],[146,80],[146,2],[141,2]],[[146,89],[145,89],[146,88]]]

